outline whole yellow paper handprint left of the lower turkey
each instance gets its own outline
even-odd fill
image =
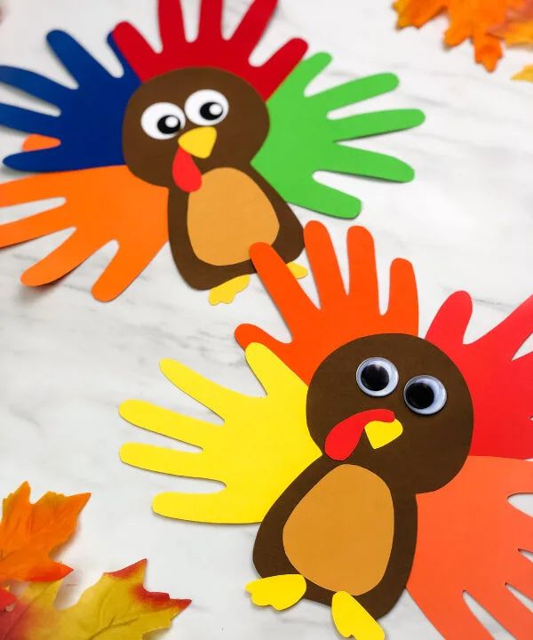
[[[161,363],[163,374],[176,387],[224,420],[221,426],[140,400],[121,405],[125,420],[202,449],[179,452],[130,443],[121,449],[123,462],[226,484],[212,493],[161,493],[153,502],[156,513],[204,523],[260,522],[287,486],[319,457],[306,425],[306,384],[263,345],[251,344],[245,355],[265,396],[244,396],[173,360]]]

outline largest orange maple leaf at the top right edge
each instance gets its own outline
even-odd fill
[[[397,0],[398,27],[420,28],[437,14],[446,12],[449,28],[444,42],[457,46],[470,39],[473,42],[475,60],[488,71],[496,68],[502,57],[500,38],[493,33],[497,25],[505,23],[510,12],[519,12],[527,0]]]

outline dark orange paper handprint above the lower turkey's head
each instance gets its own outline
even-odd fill
[[[310,222],[304,237],[320,307],[315,307],[309,300],[272,247],[255,245],[251,249],[251,259],[289,327],[292,340],[281,342],[256,326],[243,324],[235,332],[236,340],[243,348],[251,342],[264,344],[308,383],[326,356],[357,337],[386,332],[418,335],[418,293],[410,262],[393,261],[389,304],[381,314],[370,233],[362,227],[352,227],[348,231],[350,283],[347,292],[327,229],[320,222]]]

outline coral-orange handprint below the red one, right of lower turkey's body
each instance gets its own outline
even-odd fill
[[[533,633],[533,613],[506,588],[533,598],[533,562],[520,551],[533,552],[533,519],[507,500],[513,493],[533,493],[533,463],[476,456],[438,492],[417,497],[418,543],[408,589],[443,637],[493,637],[464,592],[513,637]]]

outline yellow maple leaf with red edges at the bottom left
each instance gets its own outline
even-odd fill
[[[170,628],[190,600],[147,591],[147,561],[104,573],[76,604],[54,605],[61,582],[31,585],[11,612],[0,616],[0,637],[13,640],[140,640],[156,629]]]

